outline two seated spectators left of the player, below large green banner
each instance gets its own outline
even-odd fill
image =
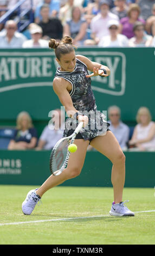
[[[16,129],[11,138],[9,150],[51,150],[63,136],[64,119],[60,109],[52,111],[49,124],[44,127],[40,138],[33,125],[33,120],[28,112],[22,111],[17,115]]]

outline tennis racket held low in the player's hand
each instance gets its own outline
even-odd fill
[[[72,135],[60,139],[54,146],[50,154],[50,172],[53,175],[60,175],[66,168],[70,152],[68,146],[74,142],[76,135],[83,127],[83,122],[80,122]]]

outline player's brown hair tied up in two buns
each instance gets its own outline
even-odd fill
[[[60,42],[57,42],[55,39],[49,40],[49,48],[55,50],[55,56],[60,60],[62,54],[67,54],[74,51],[74,45],[72,38],[68,35],[64,36]]]

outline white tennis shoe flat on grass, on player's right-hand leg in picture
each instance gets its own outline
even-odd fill
[[[119,204],[113,202],[109,214],[112,216],[134,216],[134,212],[130,211],[125,205],[126,202],[129,202],[129,200],[125,200]]]

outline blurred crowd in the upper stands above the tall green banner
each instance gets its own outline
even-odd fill
[[[17,2],[0,0],[0,17]],[[76,46],[155,47],[155,0],[33,0],[33,22],[20,31],[16,18],[0,23],[1,48],[48,47],[64,35]]]

